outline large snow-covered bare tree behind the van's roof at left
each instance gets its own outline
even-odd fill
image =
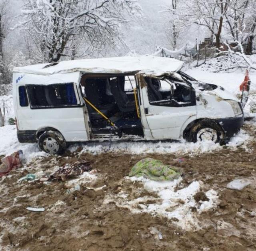
[[[131,20],[142,15],[137,0],[26,0],[19,27],[30,36],[37,61],[55,62],[74,58],[81,45],[82,55],[114,46],[120,25],[130,21],[125,13]]]

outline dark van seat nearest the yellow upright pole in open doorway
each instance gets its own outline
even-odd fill
[[[110,90],[114,96],[116,104],[121,112],[135,111],[135,101],[130,101],[124,91],[125,77],[115,77],[110,80]]]

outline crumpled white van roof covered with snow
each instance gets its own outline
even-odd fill
[[[105,57],[15,67],[13,71],[38,75],[70,73],[75,71],[82,71],[84,73],[142,72],[152,75],[163,75],[178,71],[182,65],[182,61],[167,57]]]

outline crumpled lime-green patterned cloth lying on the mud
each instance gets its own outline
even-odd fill
[[[145,158],[137,162],[129,173],[129,177],[144,177],[150,180],[173,180],[180,176],[180,172],[172,166],[164,165],[160,160]]]

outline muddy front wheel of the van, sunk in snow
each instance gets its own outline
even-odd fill
[[[224,131],[222,127],[210,120],[203,120],[192,126],[189,133],[189,141],[197,142],[212,140],[214,143],[224,142]]]

